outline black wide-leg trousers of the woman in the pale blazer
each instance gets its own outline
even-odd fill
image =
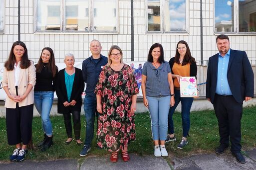
[[[9,145],[27,145],[32,136],[33,104],[6,108],[6,131]]]

